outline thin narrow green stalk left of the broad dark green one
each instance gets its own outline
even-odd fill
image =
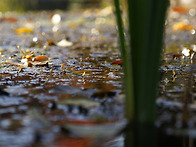
[[[125,116],[128,120],[132,120],[134,114],[134,95],[133,95],[132,67],[130,64],[131,60],[129,56],[130,48],[126,47],[124,27],[123,27],[123,22],[121,17],[119,0],[114,0],[114,6],[116,12],[119,39],[120,39],[121,55],[123,60],[123,70],[125,74],[125,78],[124,78],[124,88],[126,93]]]

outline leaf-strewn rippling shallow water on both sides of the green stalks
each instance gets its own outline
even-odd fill
[[[124,146],[125,134],[119,134],[126,124],[123,73],[121,65],[112,64],[120,59],[117,30],[114,16],[104,12],[9,12],[2,16],[7,19],[0,22],[4,55],[0,58],[0,146]],[[189,13],[170,13],[156,126],[168,135],[195,138],[194,60],[176,57],[184,48],[194,48],[195,34],[173,31],[172,25],[188,20],[196,27],[196,22]],[[57,20],[52,19],[55,14]],[[33,32],[15,33],[24,27]],[[62,40],[72,44],[62,45]],[[48,57],[48,64],[11,66],[6,59],[20,63],[24,56],[17,45],[27,54]]]

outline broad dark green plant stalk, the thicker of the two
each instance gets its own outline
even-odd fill
[[[134,78],[134,121],[153,124],[168,0],[128,0]]]

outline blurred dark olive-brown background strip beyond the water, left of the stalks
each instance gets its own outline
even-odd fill
[[[101,7],[111,0],[0,0],[0,11],[54,10]]]

